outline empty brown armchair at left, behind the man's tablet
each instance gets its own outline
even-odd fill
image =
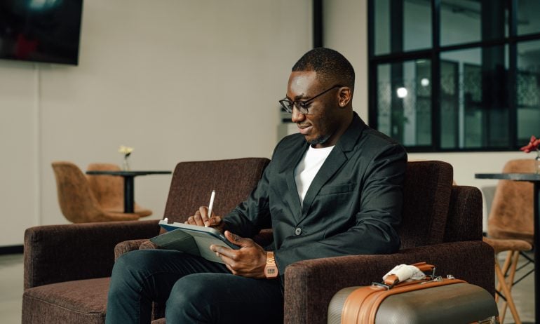
[[[178,163],[165,215],[183,222],[208,203],[212,189],[218,193],[214,210],[224,215],[248,196],[268,163],[268,158]],[[157,220],[27,229],[22,323],[104,323],[114,246],[147,241],[159,231]]]

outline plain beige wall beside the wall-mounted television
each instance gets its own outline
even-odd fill
[[[67,223],[51,161],[120,163],[120,144],[139,170],[269,157],[311,11],[311,0],[84,1],[79,66],[0,60],[0,246]],[[169,183],[135,179],[151,218]]]

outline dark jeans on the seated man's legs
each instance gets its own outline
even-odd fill
[[[150,323],[166,302],[167,324],[282,323],[279,280],[234,276],[220,263],[175,250],[135,250],[112,271],[105,323]]]

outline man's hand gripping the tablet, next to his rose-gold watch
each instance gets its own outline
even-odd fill
[[[210,250],[221,257],[227,268],[236,276],[248,278],[266,278],[264,266],[266,266],[266,251],[250,238],[241,238],[230,231],[225,231],[225,237],[239,250],[225,248],[220,245],[210,245]]]

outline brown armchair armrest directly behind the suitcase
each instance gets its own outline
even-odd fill
[[[494,251],[482,241],[400,250],[391,255],[351,255],[296,262],[285,269],[284,323],[327,323],[328,304],[340,289],[370,285],[397,264],[425,261],[494,295]]]

